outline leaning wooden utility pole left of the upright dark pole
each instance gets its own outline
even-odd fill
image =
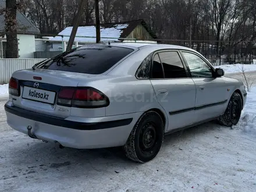
[[[69,42],[67,43],[66,51],[69,51],[70,49],[72,49],[72,45],[74,43],[74,38],[76,37],[77,28],[80,23],[81,13],[83,12],[84,3],[86,3],[86,0],[80,0],[79,9],[78,9],[78,12],[76,13],[76,17],[74,19],[74,26],[73,26],[72,32],[70,34],[70,37],[69,37]]]

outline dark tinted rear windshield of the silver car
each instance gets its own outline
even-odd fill
[[[123,47],[79,47],[40,63],[37,68],[76,73],[101,74],[133,51],[133,49]]]

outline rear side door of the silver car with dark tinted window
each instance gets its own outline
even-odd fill
[[[178,51],[159,51],[153,56],[151,83],[168,117],[168,131],[194,123],[195,84],[188,77]]]

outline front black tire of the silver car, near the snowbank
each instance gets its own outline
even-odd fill
[[[233,93],[227,105],[225,113],[219,117],[218,123],[223,126],[232,127],[239,122],[242,111],[242,99],[239,93]]]

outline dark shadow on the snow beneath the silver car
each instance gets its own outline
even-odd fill
[[[60,149],[58,145],[53,143],[42,143],[41,141],[32,140],[24,136],[24,140],[27,143],[22,142],[19,146],[13,147],[9,154],[9,163],[15,166],[16,169],[27,169],[27,172],[21,172],[23,175],[37,172],[40,172],[40,174],[51,172],[55,175],[70,172],[71,175],[76,176],[80,174],[91,176],[99,172],[118,174],[125,169],[138,169],[139,166],[147,167],[152,165],[152,163],[165,161],[167,158],[166,154],[175,154],[182,150],[179,148],[181,144],[193,140],[194,137],[199,137],[201,134],[216,131],[216,129],[221,129],[221,126],[216,126],[216,124],[211,122],[169,134],[165,137],[158,156],[153,161],[144,165],[127,159],[121,147],[95,150]],[[175,158],[175,155],[173,155],[173,158]]]

